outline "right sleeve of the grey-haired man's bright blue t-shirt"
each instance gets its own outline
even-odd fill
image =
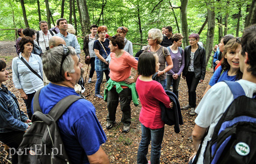
[[[78,102],[81,101],[78,100]],[[106,142],[107,137],[96,117],[95,108],[92,103],[74,103],[74,105],[76,109],[84,109],[84,105],[86,105],[87,109],[84,110],[84,112],[81,111],[83,115],[77,119],[73,128],[77,135],[78,142],[83,147],[86,155],[92,155],[99,150],[101,144]]]

